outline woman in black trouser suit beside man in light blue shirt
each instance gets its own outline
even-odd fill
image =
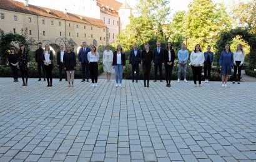
[[[170,80],[172,80],[172,69],[174,68],[175,52],[172,49],[172,44],[167,42],[167,47],[164,50],[164,67],[166,87],[170,87]]]

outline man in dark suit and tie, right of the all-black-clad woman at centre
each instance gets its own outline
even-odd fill
[[[155,65],[155,80],[157,81],[157,69],[159,68],[159,78],[162,81],[162,65],[164,64],[164,49],[161,48],[160,42],[157,42],[157,47],[153,51],[153,62]]]

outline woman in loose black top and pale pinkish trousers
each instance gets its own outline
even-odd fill
[[[75,69],[76,69],[76,54],[71,51],[71,45],[67,45],[67,50],[64,53],[63,56],[63,67],[64,70],[67,72],[67,82],[69,83],[70,86],[74,86],[74,74],[75,74]],[[71,75],[71,79],[70,79]],[[70,80],[72,82],[72,85],[70,85]]]

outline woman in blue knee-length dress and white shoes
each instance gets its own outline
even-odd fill
[[[219,65],[221,69],[220,74],[222,75],[222,87],[227,87],[227,80],[229,75],[231,75],[231,69],[234,65],[234,56],[229,44],[226,44],[224,51],[221,52]]]

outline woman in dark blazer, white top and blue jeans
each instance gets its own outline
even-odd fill
[[[126,54],[124,54],[120,44],[117,45],[117,50],[113,54],[112,66],[114,66],[116,72],[116,87],[118,87],[118,80],[119,87],[122,87],[122,71],[126,67]]]

